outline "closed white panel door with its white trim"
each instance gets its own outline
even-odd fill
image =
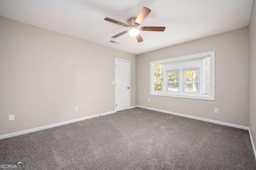
[[[116,112],[130,109],[130,61],[116,59]]]

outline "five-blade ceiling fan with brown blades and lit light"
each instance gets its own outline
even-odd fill
[[[165,27],[140,27],[140,28],[138,28],[150,12],[151,12],[150,9],[143,7],[142,10],[140,11],[139,16],[137,18],[136,17],[130,18],[127,21],[128,24],[124,24],[122,22],[113,20],[111,18],[105,18],[104,19],[105,21],[112,22],[114,24],[118,24],[118,25],[130,28],[129,30],[126,30],[124,32],[116,34],[115,36],[112,36],[111,38],[117,38],[117,37],[122,36],[123,34],[126,34],[128,32],[131,36],[136,36],[136,39],[138,40],[138,42],[143,42],[143,39],[140,36],[140,31],[162,31],[163,32],[165,30]]]

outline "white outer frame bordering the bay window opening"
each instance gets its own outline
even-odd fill
[[[186,60],[186,59],[202,58],[202,57],[206,57],[206,56],[210,56],[210,96],[204,96],[201,93],[199,93],[199,94],[176,93],[176,92],[160,93],[160,92],[154,91],[154,71],[155,71],[154,67],[155,67],[155,64],[167,63],[167,62],[172,62],[172,61],[182,61],[182,60]],[[181,70],[180,70],[180,73],[181,73]],[[200,71],[200,74],[202,74],[202,71]],[[182,73],[182,75],[183,75],[183,73]],[[200,81],[202,81],[202,79]],[[183,89],[181,89],[182,83],[180,83],[180,82],[181,81],[179,79],[179,85],[180,85],[179,90],[182,91],[183,90]],[[165,87],[164,87],[164,89],[165,89]],[[181,56],[181,57],[174,57],[174,58],[163,59],[163,60],[158,60],[158,61],[151,61],[150,62],[150,95],[214,101],[215,100],[215,51],[197,53],[197,54],[186,55],[186,56]]]

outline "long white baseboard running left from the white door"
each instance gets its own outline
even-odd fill
[[[37,127],[37,128],[31,128],[31,129],[27,129],[27,130],[22,130],[22,131],[19,131],[19,132],[4,134],[4,135],[1,135],[1,136],[0,136],[0,139],[10,138],[10,137],[13,137],[13,136],[19,136],[19,135],[21,135],[21,134],[26,134],[26,133],[30,133],[30,132],[36,132],[36,131],[38,131],[38,130],[44,130],[44,129],[47,129],[47,128],[58,127],[58,126],[60,126],[60,125],[66,125],[66,124],[69,124],[69,123],[74,123],[74,122],[78,122],[78,121],[83,121],[83,120],[86,120],[86,119],[91,119],[91,118],[94,118],[94,117],[99,117],[99,116],[103,116],[103,115],[108,115],[108,114],[111,114],[111,113],[116,113],[116,112],[115,112],[115,111],[110,111],[110,112],[101,113],[101,114],[98,114],[98,115],[92,115],[92,116],[82,117],[82,118],[79,118],[79,119],[73,119],[73,120],[70,120],[70,121],[65,121],[65,122],[60,122],[60,123],[54,123],[54,124],[52,124],[52,125],[46,125],[46,126],[42,126],[42,127]]]

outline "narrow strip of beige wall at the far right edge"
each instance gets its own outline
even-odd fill
[[[256,2],[249,24],[249,128],[256,147]]]

